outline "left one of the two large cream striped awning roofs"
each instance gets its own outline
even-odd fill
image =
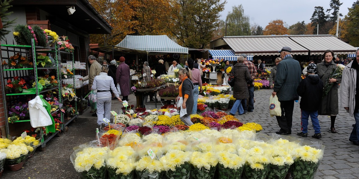
[[[282,47],[292,48],[294,55],[307,55],[309,50],[286,36],[223,37],[236,55],[278,55]]]

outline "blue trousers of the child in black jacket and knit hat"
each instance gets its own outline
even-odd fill
[[[318,120],[318,110],[313,111],[313,110],[301,110],[302,111],[302,115],[300,116],[300,120],[301,123],[300,125],[302,126],[302,132],[304,134],[308,133],[308,120],[309,120],[309,115],[311,116],[311,120],[312,120],[312,124],[313,124],[313,128],[314,128],[314,133],[318,134],[320,133],[320,125],[319,125],[319,120]]]

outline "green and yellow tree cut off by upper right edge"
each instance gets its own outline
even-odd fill
[[[357,1],[358,2],[358,1]],[[355,3],[354,3],[355,4]],[[353,4],[353,6],[354,6]],[[359,47],[359,5],[355,4],[354,8],[349,8],[347,19],[347,32],[346,37],[349,44],[354,47]]]

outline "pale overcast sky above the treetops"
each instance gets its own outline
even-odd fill
[[[348,14],[348,8],[356,0],[340,0],[343,3],[339,12],[343,17]],[[250,23],[257,23],[264,29],[271,20],[281,19],[287,23],[288,27],[303,21],[311,22],[315,6],[322,6],[324,12],[330,8],[330,0],[227,0],[221,19],[225,20],[232,6],[242,4],[244,14],[250,17]],[[342,17],[342,18],[343,18]]]

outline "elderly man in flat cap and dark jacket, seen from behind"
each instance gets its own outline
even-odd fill
[[[299,99],[297,87],[301,80],[302,69],[299,62],[290,54],[291,48],[283,47],[278,52],[283,60],[277,66],[272,95],[278,96],[282,115],[276,116],[280,130],[275,133],[292,134],[294,100]]]

